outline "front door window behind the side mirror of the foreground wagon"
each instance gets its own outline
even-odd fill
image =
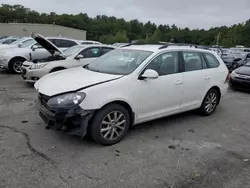
[[[158,72],[159,76],[174,74],[179,72],[178,52],[167,52],[157,56],[146,67]]]

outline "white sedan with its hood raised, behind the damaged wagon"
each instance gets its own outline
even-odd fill
[[[47,48],[48,51],[52,48],[57,49],[57,57],[54,59],[48,58],[40,62],[25,61],[23,63],[21,74],[26,82],[34,83],[46,74],[89,64],[101,55],[114,49],[113,46],[92,44],[76,45],[62,52],[55,45],[50,45],[53,44],[47,43],[44,48]]]

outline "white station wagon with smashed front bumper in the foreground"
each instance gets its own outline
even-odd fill
[[[48,128],[81,137],[89,132],[96,142],[111,145],[138,123],[194,109],[211,115],[228,79],[215,52],[132,45],[85,67],[49,74],[35,88]]]

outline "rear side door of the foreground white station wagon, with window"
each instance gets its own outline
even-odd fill
[[[181,108],[185,111],[199,107],[204,94],[208,91],[211,75],[201,53],[183,51],[181,54],[181,61],[184,67]]]

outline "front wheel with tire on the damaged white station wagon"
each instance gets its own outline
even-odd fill
[[[115,114],[117,118],[115,118]],[[109,122],[112,123],[108,125],[107,123]],[[130,115],[123,106],[110,104],[97,111],[90,126],[93,140],[101,145],[113,145],[126,135],[130,126]],[[102,129],[103,132],[101,131]]]

